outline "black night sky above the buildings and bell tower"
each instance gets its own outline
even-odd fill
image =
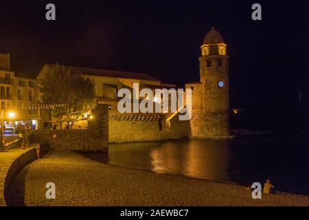
[[[47,3],[56,21],[45,20]],[[251,19],[253,3],[262,21]],[[230,56],[231,107],[247,109],[257,128],[308,124],[309,1],[1,1],[0,14],[0,52],[16,71],[58,62],[181,87],[199,80],[200,45],[214,26]]]

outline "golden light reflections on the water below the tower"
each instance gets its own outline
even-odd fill
[[[229,181],[228,146],[229,142],[218,140],[170,142],[150,151],[152,170],[156,173]]]

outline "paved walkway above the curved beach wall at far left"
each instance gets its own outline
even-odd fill
[[[5,184],[5,177],[8,173],[8,170],[19,156],[27,151],[30,151],[33,147],[21,149],[21,148],[13,148],[10,149],[8,152],[0,152],[0,206],[5,206],[5,199],[4,199],[4,184]]]

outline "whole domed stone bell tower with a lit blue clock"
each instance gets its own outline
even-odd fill
[[[203,136],[229,136],[229,56],[221,34],[212,28],[201,45]]]

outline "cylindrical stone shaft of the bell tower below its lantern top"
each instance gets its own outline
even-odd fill
[[[207,66],[207,61],[211,66]],[[200,74],[203,84],[203,136],[229,136],[229,57],[201,56]]]

